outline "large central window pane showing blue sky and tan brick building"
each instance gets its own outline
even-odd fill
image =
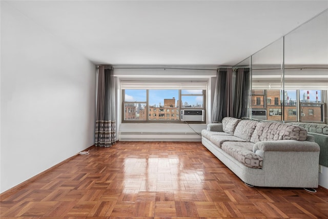
[[[149,90],[149,120],[179,120],[178,90]],[[172,111],[173,110],[173,111]],[[176,112],[168,114],[167,112]]]

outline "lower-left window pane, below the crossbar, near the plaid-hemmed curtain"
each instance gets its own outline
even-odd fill
[[[146,104],[141,104],[141,103],[124,104],[124,120],[145,121],[146,120],[145,107],[146,107]]]

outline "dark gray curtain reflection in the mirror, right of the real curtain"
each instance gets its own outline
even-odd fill
[[[239,68],[236,73],[234,116],[235,118],[248,116],[248,91],[250,87],[249,69]]]

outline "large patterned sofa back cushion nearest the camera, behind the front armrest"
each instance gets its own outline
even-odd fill
[[[257,143],[277,140],[305,141],[307,136],[308,132],[299,126],[285,123],[264,122],[257,124],[251,137],[251,142]]]

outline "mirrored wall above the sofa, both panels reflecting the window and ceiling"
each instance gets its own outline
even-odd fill
[[[327,123],[328,11],[242,63],[247,62],[251,118]]]

